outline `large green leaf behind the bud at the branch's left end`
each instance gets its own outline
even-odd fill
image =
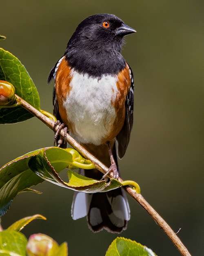
[[[38,91],[27,70],[15,56],[2,48],[0,48],[0,80],[13,84],[18,96],[40,110]],[[22,122],[32,117],[33,115],[21,106],[0,108],[0,124]]]

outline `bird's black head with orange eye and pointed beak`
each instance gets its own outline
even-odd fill
[[[120,54],[123,36],[134,32],[113,14],[96,14],[78,25],[65,55],[80,72],[98,76],[115,73],[125,66]]]

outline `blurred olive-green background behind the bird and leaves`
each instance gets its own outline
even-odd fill
[[[162,215],[194,256],[204,255],[204,1],[1,0],[0,47],[18,57],[37,87],[41,109],[52,112],[47,76],[62,57],[76,26],[87,16],[111,13],[137,30],[122,54],[133,69],[135,111],[131,142],[119,162],[123,179],[140,184],[142,195]],[[0,126],[0,165],[53,145],[53,132],[36,118]],[[66,171],[61,174],[66,178]],[[23,230],[68,242],[69,255],[104,256],[117,234],[93,234],[86,219],[71,219],[70,190],[48,182],[42,195],[14,199],[2,226],[36,213]],[[179,256],[151,217],[129,198],[131,220],[119,236],[136,240],[158,256]]]

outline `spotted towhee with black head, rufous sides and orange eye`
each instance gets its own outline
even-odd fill
[[[120,51],[123,37],[136,32],[113,14],[83,20],[71,36],[64,56],[52,68],[53,113],[81,145],[117,178],[133,126],[133,73]],[[116,143],[117,142],[117,143]],[[108,147],[107,147],[108,145]],[[100,180],[96,169],[80,174]],[[89,228],[120,233],[130,219],[121,188],[106,193],[75,192],[74,220],[87,215]]]

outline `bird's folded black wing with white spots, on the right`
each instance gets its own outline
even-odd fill
[[[129,66],[129,65],[128,65]],[[122,159],[124,156],[127,146],[130,140],[131,130],[133,128],[133,107],[134,107],[134,79],[133,72],[129,66],[130,77],[131,77],[131,87],[125,101],[125,121],[120,133],[116,136],[118,141],[118,157]]]

